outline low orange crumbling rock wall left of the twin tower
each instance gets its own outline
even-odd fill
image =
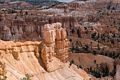
[[[38,47],[41,42],[31,42],[31,41],[26,41],[26,42],[4,42],[0,41],[0,54],[1,58],[4,58],[4,54],[12,54],[14,59],[19,60],[19,54],[24,53],[24,52],[34,52],[35,55],[38,55]]]

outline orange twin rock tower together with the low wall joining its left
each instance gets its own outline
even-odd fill
[[[61,27],[61,23],[47,24],[43,28],[43,41],[40,42],[1,42],[0,52],[10,53],[14,59],[20,60],[19,54],[24,52],[34,52],[36,57],[41,56],[47,71],[54,71],[63,67],[68,59],[69,41],[65,29]],[[39,46],[41,53],[39,53]]]

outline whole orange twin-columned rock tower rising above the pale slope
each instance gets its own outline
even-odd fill
[[[69,41],[65,29],[61,26],[61,23],[54,23],[43,28],[41,57],[47,71],[61,68],[63,66],[61,62],[67,62]]]

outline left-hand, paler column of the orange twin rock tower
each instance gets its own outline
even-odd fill
[[[53,71],[56,69],[53,61],[55,55],[55,30],[50,24],[44,26],[43,29],[43,45],[42,45],[41,57],[47,71]]]

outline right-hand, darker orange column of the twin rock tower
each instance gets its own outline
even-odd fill
[[[69,48],[69,41],[67,39],[67,33],[66,30],[62,27],[58,27],[56,25],[56,41],[55,41],[55,51],[56,56],[59,58],[62,62],[67,62],[68,60],[68,48]]]

